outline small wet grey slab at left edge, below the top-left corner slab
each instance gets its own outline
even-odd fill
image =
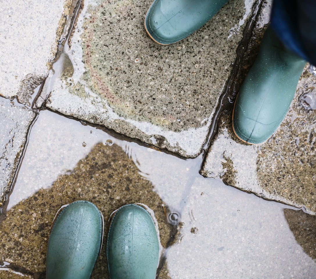
[[[35,117],[34,111],[0,97],[0,206],[15,177],[27,142],[28,129]]]

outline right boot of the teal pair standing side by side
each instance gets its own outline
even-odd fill
[[[150,214],[136,204],[120,207],[107,237],[111,279],[153,279],[159,261],[159,242]]]

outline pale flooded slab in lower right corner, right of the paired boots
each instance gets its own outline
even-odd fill
[[[176,241],[167,248],[171,278],[314,277],[314,216],[208,183],[193,182]]]

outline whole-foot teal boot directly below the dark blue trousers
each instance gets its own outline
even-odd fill
[[[260,144],[270,138],[289,110],[306,63],[268,27],[234,106],[233,129],[240,140]]]

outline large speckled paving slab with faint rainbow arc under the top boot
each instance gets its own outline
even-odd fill
[[[187,39],[161,46],[143,26],[151,1],[85,0],[39,100],[65,115],[196,157],[257,2],[231,0]]]

